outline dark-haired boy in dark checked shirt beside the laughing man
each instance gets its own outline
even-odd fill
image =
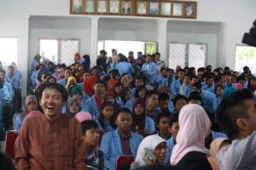
[[[104,168],[104,154],[97,145],[100,140],[100,130],[96,122],[84,121],[81,122],[82,132],[84,135],[84,144],[86,145],[87,165],[96,167],[97,169]]]

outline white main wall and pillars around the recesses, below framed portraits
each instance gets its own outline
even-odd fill
[[[29,19],[32,15],[38,16],[65,16],[65,17],[81,17],[81,18],[90,18],[90,55],[92,55],[92,64],[95,64],[96,57],[96,41],[99,37],[102,37],[104,32],[104,26],[101,23],[105,23],[106,27],[110,27],[106,21],[101,18],[113,18],[118,19],[116,21],[120,22],[117,26],[119,30],[115,31],[113,29],[112,35],[113,38],[130,37],[123,36],[120,29],[125,30],[125,26],[129,25],[122,21],[121,19],[129,19],[127,22],[131,22],[132,26],[138,27],[141,25],[140,20],[157,20],[155,29],[155,34],[152,38],[156,38],[156,41],[159,42],[160,53],[163,55],[163,58],[166,59],[167,52],[167,32],[172,35],[172,32],[166,31],[167,22],[172,20],[179,19],[158,19],[158,18],[143,18],[143,17],[128,17],[128,16],[96,16],[96,15],[70,15],[69,14],[69,0],[0,0],[0,37],[18,37],[18,66],[21,73],[24,75],[24,79],[21,81],[21,86],[23,89],[23,95],[26,94],[26,71],[27,63],[30,52],[29,48]],[[218,31],[218,47],[217,53],[218,57],[210,59],[215,62],[215,65],[219,66],[229,65],[231,68],[235,67],[235,47],[236,43],[241,43],[241,37],[244,32],[248,31],[252,26],[253,20],[256,17],[256,1],[255,0],[198,0],[197,1],[197,19],[189,20],[189,22],[217,22],[223,27]],[[100,20],[99,20],[100,19]],[[134,20],[133,20],[134,19]],[[102,21],[101,21],[102,20]],[[109,19],[105,19],[109,20]],[[181,19],[185,21],[186,19]],[[63,23],[61,23],[63,24]],[[98,26],[100,25],[100,26]],[[145,26],[143,25],[143,31],[152,31],[151,21],[146,21]],[[168,24],[169,25],[169,24]],[[62,25],[61,25],[62,26]],[[99,28],[99,31],[98,31]],[[39,29],[39,28],[38,28]],[[86,29],[86,26],[85,28]],[[43,29],[44,30],[44,29]],[[105,31],[108,32],[108,31]],[[125,33],[129,31],[125,30]],[[139,29],[133,29],[129,35],[132,35],[132,39],[137,40],[137,35],[141,31]],[[187,34],[191,34],[186,32]],[[147,33],[148,34],[148,33]],[[174,34],[177,34],[177,32]],[[209,34],[209,33],[208,33]],[[212,41],[213,36],[212,35]],[[106,36],[106,35],[104,35]],[[174,37],[174,35],[172,35]],[[194,35],[195,36],[195,35]],[[108,37],[109,38],[109,37]],[[143,38],[143,37],[140,37]],[[32,42],[31,42],[32,43]],[[213,49],[212,49],[213,50]],[[87,49],[85,49],[87,51]],[[35,53],[35,52],[33,52]],[[29,57],[28,57],[29,56]],[[212,52],[213,56],[213,52]],[[220,60],[222,59],[222,60]],[[1,59],[0,59],[1,60]]]

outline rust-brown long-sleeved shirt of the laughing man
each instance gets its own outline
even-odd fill
[[[85,145],[79,122],[66,115],[49,121],[44,115],[26,119],[15,153],[17,169],[85,169]]]

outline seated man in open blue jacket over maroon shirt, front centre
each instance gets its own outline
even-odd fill
[[[104,153],[105,166],[111,170],[115,169],[118,156],[136,156],[137,148],[143,137],[131,132],[131,111],[120,108],[117,112],[115,123],[116,130],[105,133],[102,137],[101,150]]]

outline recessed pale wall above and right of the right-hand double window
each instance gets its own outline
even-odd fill
[[[167,42],[207,43],[206,64],[211,64],[215,68],[218,56],[218,33],[221,29],[222,26],[218,23],[172,20],[167,23]]]

